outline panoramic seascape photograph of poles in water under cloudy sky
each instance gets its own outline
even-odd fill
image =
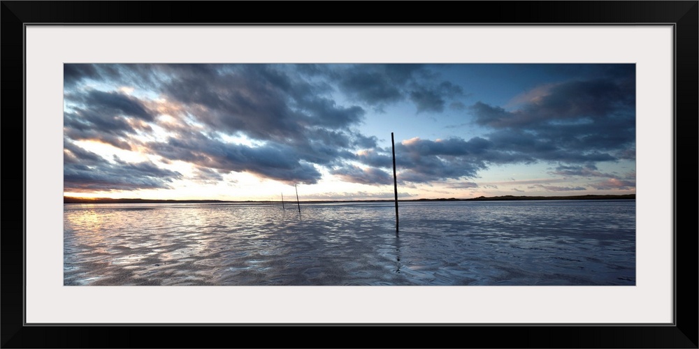
[[[636,284],[635,64],[64,64],[63,282]]]

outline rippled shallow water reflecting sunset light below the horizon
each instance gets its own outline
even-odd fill
[[[635,201],[64,205],[65,285],[635,285]]]

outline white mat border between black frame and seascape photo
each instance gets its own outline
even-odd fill
[[[33,26],[26,31],[32,323],[672,322],[672,26]],[[633,63],[635,286],[64,286],[64,63]]]

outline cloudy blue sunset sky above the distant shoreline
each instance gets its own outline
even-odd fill
[[[65,64],[64,194],[635,193],[633,64]]]

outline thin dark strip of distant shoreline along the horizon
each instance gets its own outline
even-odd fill
[[[457,198],[439,198],[439,199],[406,199],[398,200],[399,202],[431,202],[431,201],[515,201],[515,200],[636,200],[636,194],[626,194],[626,195],[573,195],[573,196],[514,196],[514,195],[503,195],[503,196],[492,196],[484,197],[480,196],[478,198],[470,199],[457,199]],[[270,200],[244,200],[244,201],[232,201],[232,200],[157,200],[157,199],[112,199],[112,198],[73,198],[69,196],[63,197],[64,204],[159,204],[159,203],[172,203],[172,204],[195,204],[195,203],[281,203],[281,201],[270,201]],[[332,202],[394,202],[394,200],[306,200],[304,203],[332,203]],[[289,204],[292,202],[289,201]]]

